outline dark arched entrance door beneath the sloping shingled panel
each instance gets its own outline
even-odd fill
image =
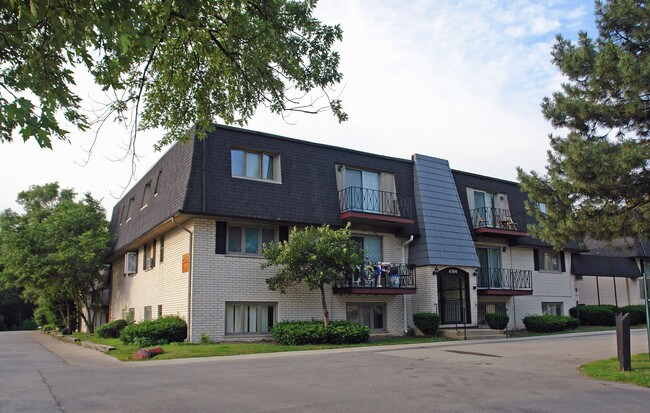
[[[469,274],[459,268],[438,272],[438,298],[442,324],[470,324]]]

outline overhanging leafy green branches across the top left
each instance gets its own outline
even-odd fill
[[[0,3],[0,142],[14,131],[51,148],[67,140],[57,115],[93,123],[74,91],[86,70],[110,97],[94,121],[115,117],[132,131],[162,127],[158,147],[199,136],[217,118],[245,124],[260,105],[274,113],[329,107],[347,119],[331,87],[341,81],[338,25],[312,16],[316,0]],[[320,89],[327,104],[305,101]],[[321,97],[322,97],[321,96]],[[141,118],[140,123],[138,119]],[[133,137],[132,137],[133,138]]]

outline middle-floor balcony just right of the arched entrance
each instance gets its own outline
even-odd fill
[[[533,272],[510,268],[479,268],[476,288],[479,295],[532,295]]]

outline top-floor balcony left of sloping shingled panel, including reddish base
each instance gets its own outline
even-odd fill
[[[413,197],[398,198],[396,193],[348,187],[339,191],[341,219],[361,224],[381,221],[388,226],[415,223]]]

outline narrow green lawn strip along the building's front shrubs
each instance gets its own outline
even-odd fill
[[[92,341],[99,344],[106,344],[115,347],[115,350],[109,351],[107,354],[122,361],[135,360],[134,353],[138,350],[137,346],[125,345],[115,339],[103,339],[91,336],[87,333],[73,333],[73,337],[79,338],[81,341]],[[174,343],[166,344],[162,347],[163,354],[155,357],[156,360],[167,360],[177,358],[190,358],[190,357],[217,357],[217,356],[234,356],[240,354],[257,354],[257,353],[278,353],[284,351],[305,351],[305,350],[321,350],[331,348],[346,348],[346,347],[366,347],[366,346],[382,346],[382,345],[396,345],[396,344],[417,344],[417,343],[431,343],[437,341],[449,341],[450,339],[444,337],[391,337],[382,339],[373,339],[369,343],[363,344],[349,344],[349,345],[305,345],[305,346],[283,346],[280,344],[270,342],[232,342],[232,343],[214,343],[214,344],[186,344]]]

